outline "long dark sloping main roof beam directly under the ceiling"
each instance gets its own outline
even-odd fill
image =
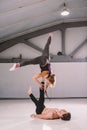
[[[34,38],[34,37],[37,37],[46,33],[50,33],[57,30],[62,30],[64,28],[66,29],[66,28],[85,27],[85,26],[87,26],[87,21],[60,23],[60,24],[56,24],[50,27],[39,29],[37,31],[30,32],[30,33],[9,39],[7,41],[1,42],[0,44],[4,44],[6,42],[11,43],[12,41],[17,43],[19,41],[21,42],[24,39],[31,39],[31,38]]]

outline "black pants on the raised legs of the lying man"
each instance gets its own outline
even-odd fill
[[[45,105],[44,105],[44,89],[40,89],[40,97],[39,97],[39,100],[37,100],[33,94],[30,94],[29,95],[31,100],[34,102],[34,104],[36,105],[36,113],[37,114],[41,114],[42,111],[44,110],[45,108]]]

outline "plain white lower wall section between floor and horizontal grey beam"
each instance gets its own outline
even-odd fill
[[[38,97],[38,85],[32,76],[38,73],[38,65],[29,65],[9,72],[12,64],[0,64],[0,98],[27,98],[32,85]],[[48,89],[49,97],[87,97],[87,63],[52,63],[56,74],[55,88]]]

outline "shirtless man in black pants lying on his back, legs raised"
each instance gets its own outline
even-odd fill
[[[42,87],[43,85],[43,87]],[[53,120],[53,119],[62,119],[62,120],[70,120],[71,119],[71,113],[67,112],[64,109],[57,109],[57,108],[46,108],[44,105],[44,82],[42,82],[42,85],[39,87],[40,89],[40,97],[39,100],[37,100],[34,95],[32,94],[31,88],[28,90],[28,94],[31,98],[31,100],[36,105],[36,114],[32,114],[32,117],[40,118],[40,119],[46,119],[46,120]]]

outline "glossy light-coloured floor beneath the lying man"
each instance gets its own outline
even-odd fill
[[[87,130],[87,99],[47,99],[45,105],[70,111],[71,121],[31,118],[31,100],[0,100],[0,130]]]

